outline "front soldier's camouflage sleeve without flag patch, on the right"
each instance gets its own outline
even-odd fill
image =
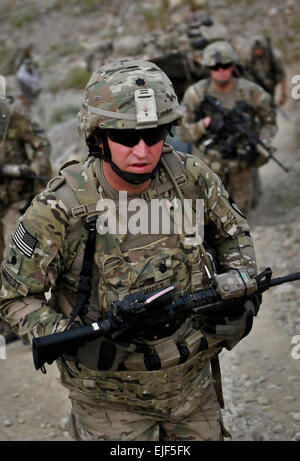
[[[247,268],[256,274],[256,258],[249,225],[229,197],[220,178],[198,158],[189,156],[187,173],[204,197],[204,241],[213,248],[221,272]]]

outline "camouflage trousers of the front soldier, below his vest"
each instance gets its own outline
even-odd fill
[[[126,405],[89,402],[72,391],[71,433],[75,440],[166,441],[223,440],[224,426],[212,385],[203,392],[199,405],[187,418],[159,420],[151,415],[127,411]]]

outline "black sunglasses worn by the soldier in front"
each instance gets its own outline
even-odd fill
[[[161,125],[157,128],[145,130],[108,130],[107,134],[111,141],[123,144],[123,146],[133,147],[144,140],[147,146],[153,146],[157,142],[166,138],[169,133],[169,125]]]

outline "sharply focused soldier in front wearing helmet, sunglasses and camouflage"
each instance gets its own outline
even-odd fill
[[[255,276],[248,224],[220,179],[164,144],[181,114],[170,80],[153,63],[115,61],[92,74],[79,113],[89,157],[63,167],[35,198],[2,266],[0,312],[24,340],[112,319],[112,303],[128,294],[170,285],[175,296],[191,293],[211,286],[216,270]],[[163,198],[169,230],[149,209]],[[193,206],[203,200],[204,241],[176,231],[185,198]],[[146,214],[134,217],[145,204]],[[73,437],[221,440],[217,357],[250,332],[259,304],[253,296],[233,318],[194,315],[126,340],[107,334],[71,347],[57,365],[70,390]]]

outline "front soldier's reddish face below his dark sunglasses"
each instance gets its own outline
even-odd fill
[[[141,138],[139,142],[128,147],[112,141],[109,137],[108,145],[112,161],[122,170],[129,173],[151,173],[156,167],[162,152],[164,139],[152,146],[147,146]]]

